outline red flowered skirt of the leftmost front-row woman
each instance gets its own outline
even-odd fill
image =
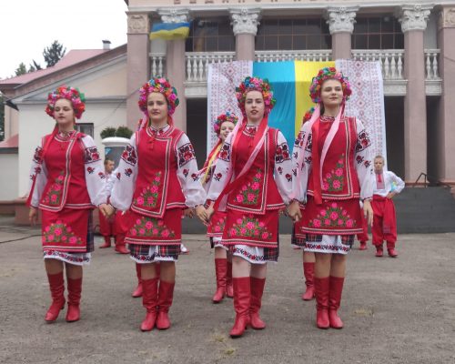
[[[75,208],[58,212],[42,210],[43,248],[86,253],[89,214],[89,210]]]

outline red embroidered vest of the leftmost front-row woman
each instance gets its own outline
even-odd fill
[[[47,183],[39,207],[47,211],[62,208],[93,208],[86,188],[85,152],[77,133],[69,139],[56,136],[45,153]],[[49,136],[44,137],[43,145]]]

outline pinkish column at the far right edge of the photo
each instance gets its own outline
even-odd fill
[[[455,7],[442,7],[438,26],[442,95],[436,125],[437,178],[455,187]],[[452,188],[453,190],[453,188]]]

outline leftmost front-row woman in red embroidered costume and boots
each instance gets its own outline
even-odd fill
[[[45,271],[52,305],[45,320],[53,322],[65,307],[64,266],[68,289],[66,321],[80,318],[82,266],[94,249],[92,210],[106,213],[105,168],[90,136],[75,130],[85,98],[74,87],[60,86],[47,97],[45,112],[56,120],[52,134],[36,147],[27,200],[31,223],[42,212]]]

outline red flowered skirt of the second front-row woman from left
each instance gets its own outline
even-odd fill
[[[182,210],[166,210],[163,218],[147,217],[130,211],[126,214],[128,230],[125,242],[136,245],[180,245],[182,241]],[[128,222],[129,220],[129,222]]]

